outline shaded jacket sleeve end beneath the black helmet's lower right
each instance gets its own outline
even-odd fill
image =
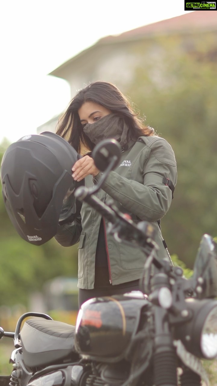
[[[63,247],[70,247],[79,241],[81,231],[81,216],[79,215],[71,223],[58,225],[58,232],[54,238]]]

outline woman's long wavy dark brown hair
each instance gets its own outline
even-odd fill
[[[132,110],[129,100],[115,85],[97,81],[90,83],[75,95],[57,125],[56,134],[66,139],[78,153],[83,149],[92,151],[95,146],[84,133],[78,115],[80,107],[88,101],[98,103],[122,117],[130,128],[129,139],[136,141],[141,135],[155,134],[153,128],[144,125],[142,119]]]

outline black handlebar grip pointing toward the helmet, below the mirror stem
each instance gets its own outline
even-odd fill
[[[97,212],[99,212],[111,223],[115,222],[116,216],[114,211],[108,207],[108,205],[104,204],[99,198],[94,195],[90,195],[86,186],[80,186],[77,188],[74,192],[74,196],[80,201],[85,201],[88,205],[90,205],[90,207],[97,210]]]

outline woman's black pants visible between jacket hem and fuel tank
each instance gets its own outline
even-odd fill
[[[139,291],[139,280],[130,281],[129,283],[118,284],[109,287],[81,289],[78,291],[79,308],[86,300],[98,298],[102,296],[120,295],[130,291]]]

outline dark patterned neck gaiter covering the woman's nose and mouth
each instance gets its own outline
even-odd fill
[[[128,142],[129,127],[125,124],[124,119],[118,117],[117,114],[111,113],[100,118],[97,122],[88,123],[83,130],[95,145],[103,139],[110,138],[116,139],[120,146],[124,146]]]

